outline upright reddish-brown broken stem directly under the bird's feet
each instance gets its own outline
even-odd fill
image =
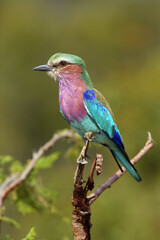
[[[89,148],[89,142],[91,140],[92,133],[88,133],[87,140],[84,147],[77,159],[77,168],[74,176],[74,190],[72,198],[72,227],[75,240],[89,240],[90,239],[90,206],[86,201],[86,189],[83,188],[84,166],[87,163],[87,151]],[[94,166],[92,167],[94,169]],[[94,170],[92,170],[93,172]],[[92,173],[91,173],[92,175]],[[88,189],[87,189],[88,190]]]

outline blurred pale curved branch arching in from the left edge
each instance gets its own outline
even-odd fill
[[[50,148],[52,148],[55,143],[63,138],[73,138],[76,134],[73,130],[64,130],[60,133],[55,133],[53,137],[39,148],[37,152],[33,153],[32,159],[27,164],[26,168],[22,173],[15,173],[6,178],[6,180],[0,186],[0,208],[7,197],[7,195],[17,186],[22,184],[29,174],[34,169],[36,162],[46,153]]]

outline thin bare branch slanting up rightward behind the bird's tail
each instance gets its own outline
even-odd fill
[[[151,137],[151,133],[148,132],[148,138],[144,147],[139,151],[139,153],[131,159],[131,163],[136,164],[152,147],[154,142]],[[91,193],[87,199],[89,200],[89,205],[91,205],[107,188],[110,188],[111,185],[116,182],[124,173],[126,169],[122,167],[123,172],[118,170],[112,177],[110,177],[105,183],[103,183],[94,193]]]

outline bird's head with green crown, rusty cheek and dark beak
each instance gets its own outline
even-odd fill
[[[92,86],[90,77],[87,73],[85,62],[78,56],[56,53],[47,64],[35,67],[35,71],[46,71],[55,81],[81,79],[89,86]]]

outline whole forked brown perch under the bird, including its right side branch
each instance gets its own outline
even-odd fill
[[[87,141],[88,141],[87,144],[82,149],[82,152],[84,153],[83,154],[84,159],[87,158],[89,139]],[[148,132],[147,142],[145,146],[140,150],[140,152],[134,158],[132,158],[131,160],[132,164],[137,163],[153,147],[153,145],[154,144],[151,138],[151,134]],[[90,194],[87,197],[87,192],[89,190],[92,190],[94,187],[94,181],[93,181],[94,171],[96,170],[97,175],[102,172],[102,169],[101,169],[102,162],[103,162],[103,156],[101,154],[97,154],[92,164],[90,174],[85,186],[82,185],[85,183],[85,181],[82,179],[84,164],[78,163],[77,170],[75,173],[75,182],[74,182],[75,184],[74,184],[73,198],[72,198],[72,205],[73,205],[72,226],[73,226],[73,235],[75,240],[90,240],[91,238],[90,229],[92,226],[90,222],[90,218],[91,218],[90,205],[107,188],[110,188],[111,185],[115,181],[117,181],[122,175],[124,175],[124,173],[126,172],[125,168],[122,167],[123,172],[121,172],[121,170],[118,170],[112,177],[110,177],[104,184],[102,184],[94,193]]]

